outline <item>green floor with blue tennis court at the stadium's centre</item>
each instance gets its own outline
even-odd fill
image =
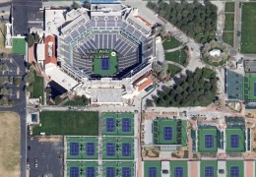
[[[113,50],[97,50],[93,70],[102,77],[112,76],[118,71],[118,60]]]

